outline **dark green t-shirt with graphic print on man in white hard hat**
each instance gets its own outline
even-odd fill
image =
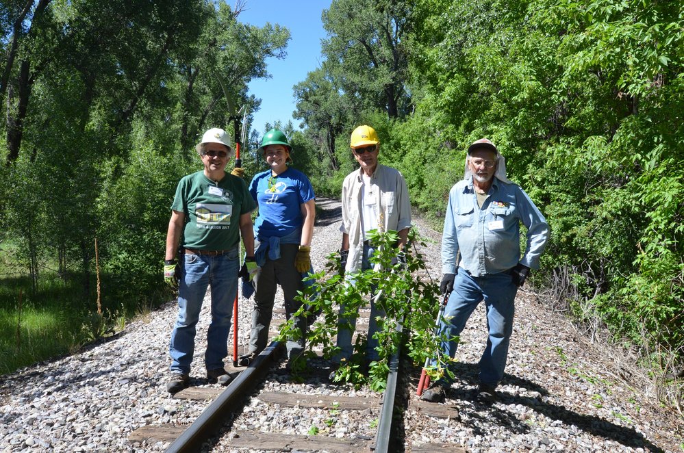
[[[215,183],[203,171],[188,174],[176,187],[171,209],[185,214],[182,245],[226,250],[240,242],[240,216],[257,205],[242,178],[226,173]]]

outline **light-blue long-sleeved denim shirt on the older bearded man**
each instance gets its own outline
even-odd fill
[[[520,222],[527,227],[527,246],[520,258]],[[449,192],[442,236],[442,272],[464,268],[472,276],[497,274],[518,264],[539,269],[549,227],[529,196],[516,184],[494,177],[482,207],[477,205],[472,176]],[[457,253],[461,260],[456,262]]]

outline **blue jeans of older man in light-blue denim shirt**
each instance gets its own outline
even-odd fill
[[[444,309],[444,318],[450,322],[440,323],[440,333],[447,338],[460,335],[472,311],[484,300],[489,337],[480,359],[480,383],[496,387],[506,367],[518,287],[508,272],[474,277],[463,268],[458,271]],[[442,353],[454,357],[457,346],[456,341],[444,341]],[[442,382],[446,383],[446,378]]]

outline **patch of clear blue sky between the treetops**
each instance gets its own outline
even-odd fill
[[[292,118],[292,86],[305,80],[307,73],[320,66],[320,39],[325,38],[320,14],[329,7],[330,0],[246,0],[239,21],[259,27],[266,22],[277,23],[290,29],[285,60],[266,60],[272,78],[253,80],[249,84],[250,94],[262,100],[252,124],[259,134],[265,132],[266,122],[277,120],[283,125],[292,120],[294,127],[299,127],[299,120]]]

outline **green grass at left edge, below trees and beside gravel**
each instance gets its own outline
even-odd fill
[[[74,353],[121,330],[126,320],[168,298],[161,291],[138,295],[136,288],[126,288],[125,295],[116,294],[112,289],[116,285],[110,284],[110,292],[105,289],[103,313],[98,314],[97,295],[84,294],[80,276],[62,279],[43,266],[33,294],[27,272],[21,274],[23,269],[10,263],[10,255],[11,251],[0,249],[0,374]]]

